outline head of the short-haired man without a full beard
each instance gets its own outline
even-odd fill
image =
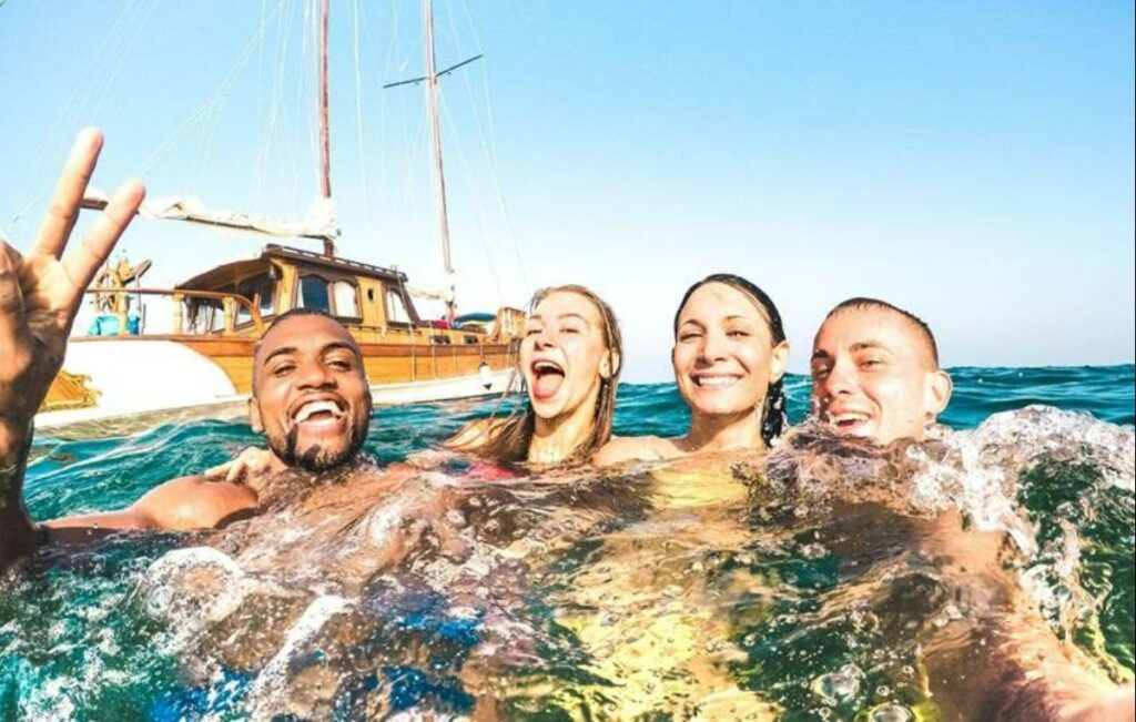
[[[896,311],[837,310],[812,349],[813,411],[838,434],[921,440],[951,397],[924,333]]]

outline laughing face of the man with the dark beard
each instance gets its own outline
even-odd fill
[[[370,391],[354,339],[324,316],[293,316],[261,339],[249,413],[289,467],[333,469],[362,446]]]

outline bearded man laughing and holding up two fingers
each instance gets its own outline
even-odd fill
[[[23,503],[33,419],[62,364],[83,292],[134,217],[144,188],[128,182],[81,242],[61,257],[94,170],[102,136],[83,132],[60,177],[35,245],[22,255],[0,242],[0,569],[40,540],[106,529],[198,529],[256,513],[248,486],[203,476],[167,481],[131,506],[48,521],[36,528]],[[323,475],[356,459],[371,402],[354,338],[329,316],[282,314],[257,345],[249,413],[272,451],[268,468]]]

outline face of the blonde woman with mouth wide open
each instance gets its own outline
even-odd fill
[[[520,344],[520,369],[538,421],[594,413],[601,378],[618,368],[604,337],[599,309],[578,293],[553,292],[536,304]]]

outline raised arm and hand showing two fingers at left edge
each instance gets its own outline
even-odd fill
[[[101,149],[101,133],[80,133],[26,254],[0,241],[0,569],[35,545],[23,499],[32,421],[62,366],[83,292],[145,195],[141,183],[125,183],[62,255]]]

